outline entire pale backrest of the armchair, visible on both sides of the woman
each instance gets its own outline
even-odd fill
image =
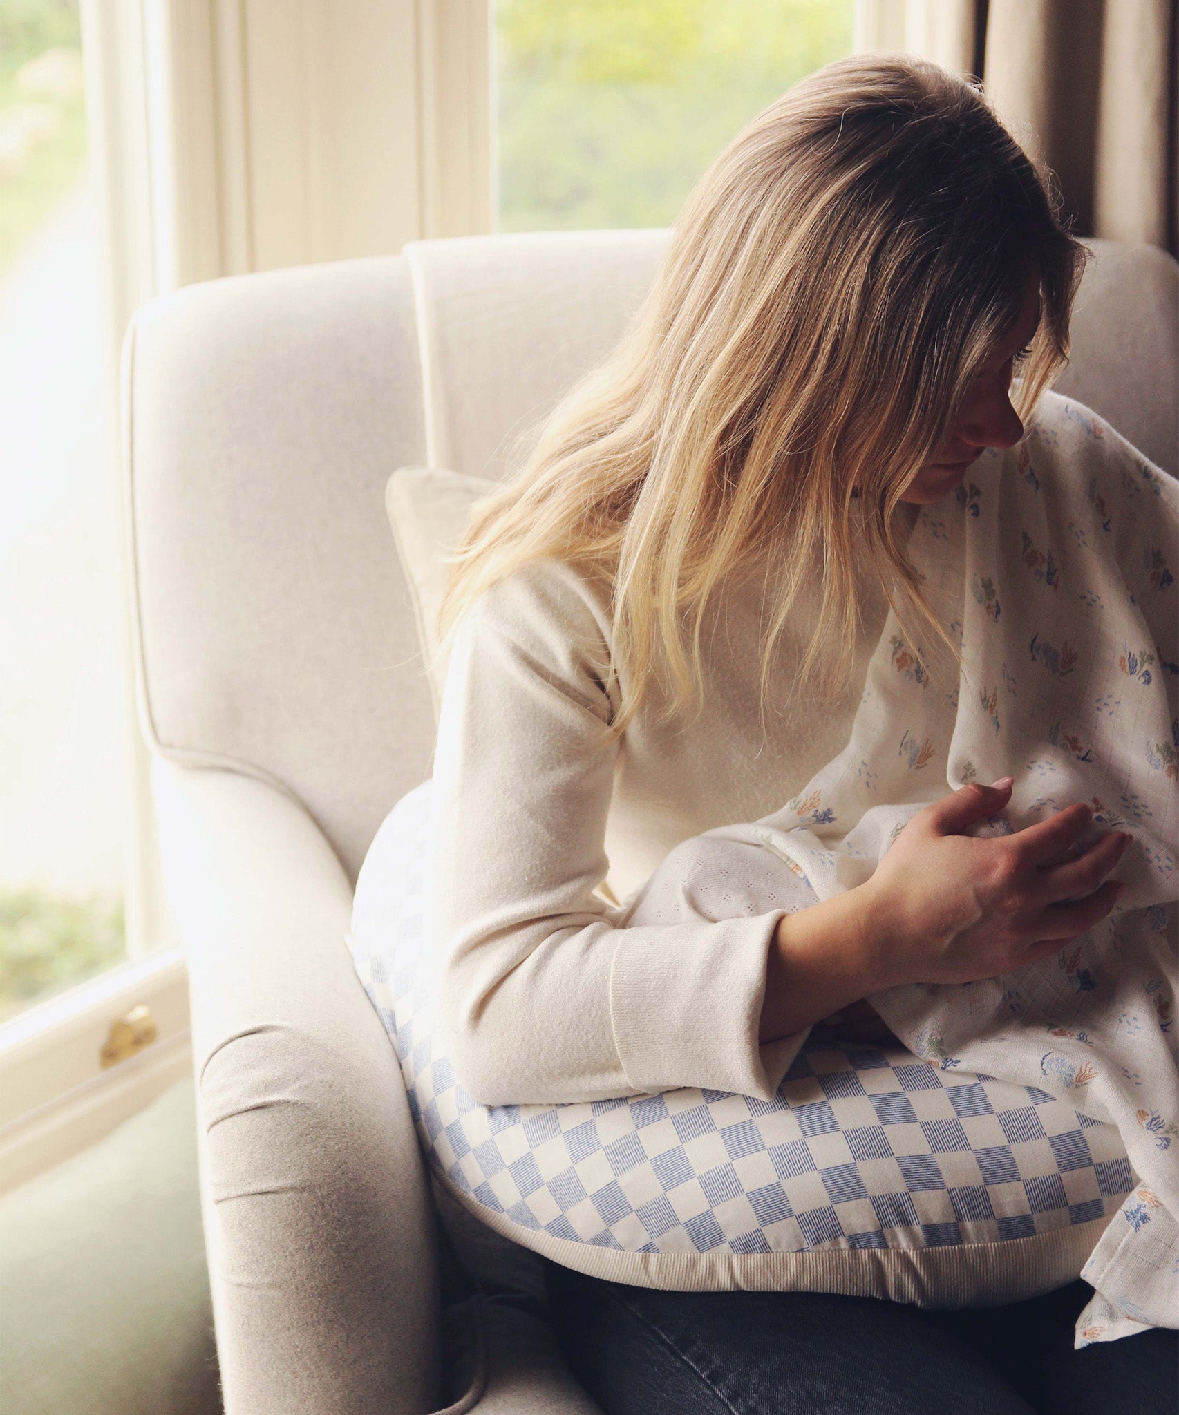
[[[154,750],[293,794],[355,879],[435,734],[385,481],[427,458],[501,475],[519,433],[619,338],[665,239],[423,242],[143,310],[123,475]],[[1062,386],[1175,473],[1179,266],[1094,248]]]

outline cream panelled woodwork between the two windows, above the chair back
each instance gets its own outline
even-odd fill
[[[139,3],[159,289],[491,229],[488,0]]]

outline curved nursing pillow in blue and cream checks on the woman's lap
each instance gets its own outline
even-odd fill
[[[480,1105],[435,1036],[422,966],[427,791],[376,833],[348,944],[422,1148],[490,1227],[566,1266],[675,1289],[958,1306],[1080,1271],[1134,1187],[1117,1129],[900,1047],[815,1032],[769,1102],[685,1088]]]

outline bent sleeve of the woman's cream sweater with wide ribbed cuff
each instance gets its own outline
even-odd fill
[[[596,893],[620,750],[607,645],[603,610],[553,565],[484,594],[456,635],[430,850],[456,1073],[488,1105],[681,1085],[769,1099],[801,1041],[757,1043],[783,911],[619,928]]]

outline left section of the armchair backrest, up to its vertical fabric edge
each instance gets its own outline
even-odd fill
[[[147,306],[123,406],[147,740],[293,794],[355,879],[435,737],[384,511],[426,451],[403,259]]]

